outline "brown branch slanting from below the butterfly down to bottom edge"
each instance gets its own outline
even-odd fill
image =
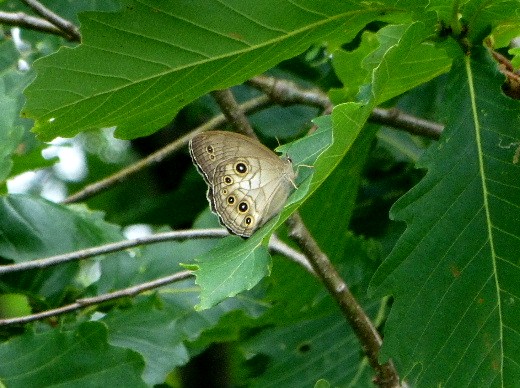
[[[288,224],[290,237],[296,241],[307,256],[318,278],[321,279],[331,296],[338,303],[343,315],[358,337],[370,366],[376,371],[376,384],[380,387],[399,386],[399,376],[392,361],[383,365],[379,364],[378,356],[382,344],[379,333],[350,292],[345,281],[329,261],[327,255],[320,250],[300,215],[294,213],[289,217]]]

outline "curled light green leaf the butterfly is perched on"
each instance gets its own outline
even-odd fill
[[[336,107],[332,115],[332,138],[336,141],[330,147],[331,120],[329,117],[320,117],[315,120],[320,126],[319,131],[284,148],[291,158],[294,158],[296,165],[307,161],[312,163],[315,160],[313,171],[309,172],[312,175],[307,175],[308,178],[303,182],[297,181],[300,186],[289,197],[281,214],[256,231],[247,241],[230,238],[229,242],[223,242],[221,247],[217,247],[214,252],[211,251],[207,260],[205,257],[198,259],[200,265],[188,266],[195,270],[197,284],[201,286],[201,303],[198,308],[208,308],[227,296],[249,290],[268,274],[268,254],[261,244],[265,243],[265,238],[270,232],[284,222],[338,166],[359,134],[369,112],[367,106],[357,104]],[[255,263],[256,260],[258,263]],[[222,263],[226,266],[221,268]],[[204,266],[208,267],[203,268]],[[237,272],[238,269],[242,272]]]

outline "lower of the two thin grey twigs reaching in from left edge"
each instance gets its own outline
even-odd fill
[[[68,304],[66,306],[61,306],[55,309],[42,311],[41,313],[25,315],[23,317],[0,319],[0,326],[25,324],[29,322],[38,321],[40,319],[63,315],[72,311],[76,311],[88,306],[93,306],[99,303],[107,302],[113,299],[136,296],[137,294],[140,294],[144,291],[152,290],[170,283],[178,282],[187,279],[191,276],[193,276],[193,273],[191,271],[180,271],[173,275],[155,279],[150,282],[141,283],[137,286],[124,288],[122,290],[114,291],[99,296],[94,296],[91,298],[77,299],[74,303]]]

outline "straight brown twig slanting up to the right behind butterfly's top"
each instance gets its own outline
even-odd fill
[[[259,109],[265,108],[266,106],[269,106],[271,104],[272,104],[272,102],[270,101],[269,97],[260,96],[260,97],[251,99],[251,100],[241,104],[240,107],[244,112],[253,113],[253,112],[256,112]],[[226,117],[223,114],[220,114],[220,115],[212,118],[208,122],[204,123],[203,125],[197,127],[195,130],[191,131],[190,133],[180,137],[179,139],[173,141],[172,143],[170,143],[167,146],[161,148],[160,150],[154,152],[153,154],[150,154],[149,156],[140,160],[139,162],[134,163],[131,166],[118,171],[114,175],[111,175],[98,182],[92,183],[92,184],[86,186],[85,188],[83,188],[82,190],[78,191],[77,193],[70,195],[69,197],[65,198],[62,201],[62,203],[73,203],[73,202],[85,201],[88,198],[90,198],[96,194],[99,194],[99,193],[111,188],[112,186],[128,179],[133,174],[135,174],[139,171],[142,171],[149,166],[162,162],[168,156],[174,154],[180,148],[182,148],[186,144],[188,144],[188,141],[196,134],[201,133],[203,131],[210,130],[210,129],[215,129],[225,123],[226,123]]]

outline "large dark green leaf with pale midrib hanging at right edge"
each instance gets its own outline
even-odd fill
[[[520,104],[483,50],[458,59],[425,178],[392,209],[407,230],[373,279],[394,295],[384,357],[416,386],[520,376]]]

